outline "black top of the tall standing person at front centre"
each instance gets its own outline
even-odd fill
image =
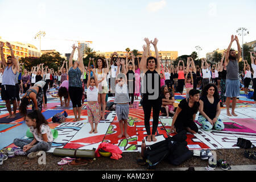
[[[151,78],[149,78],[151,76]],[[157,80],[158,83],[155,83],[155,76],[157,76]],[[150,85],[148,85],[148,79],[151,79]],[[160,90],[160,75],[158,74],[158,72],[154,71],[150,71],[148,69],[148,71],[145,73],[144,77],[143,77],[143,81],[146,82],[146,88],[143,88],[143,99],[148,99],[148,96],[154,96],[155,91],[152,92],[152,90],[158,89],[158,98],[160,98],[161,95],[161,90]],[[149,80],[150,81],[150,80]],[[145,92],[146,90],[146,92]],[[152,92],[152,93],[150,93]]]

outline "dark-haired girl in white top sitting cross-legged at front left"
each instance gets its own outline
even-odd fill
[[[16,150],[15,155],[28,155],[33,158],[39,151],[48,151],[52,147],[53,135],[46,118],[40,110],[34,110],[26,115],[26,124],[30,128],[34,139],[14,139],[15,146],[22,149]]]

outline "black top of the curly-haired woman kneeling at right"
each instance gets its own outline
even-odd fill
[[[202,96],[200,97],[200,100],[202,100],[204,102],[204,113],[210,118],[210,119],[214,119],[214,117],[216,116],[216,109],[217,109],[217,105],[218,102],[220,102],[219,98],[214,97],[214,102],[213,104],[211,104],[207,98],[207,96]],[[199,113],[199,115],[201,115],[201,113]]]

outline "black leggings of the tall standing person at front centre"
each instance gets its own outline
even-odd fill
[[[158,128],[159,113],[162,106],[162,99],[158,98],[156,100],[144,99],[142,101],[142,107],[144,111],[144,125],[147,131],[147,135],[150,135],[150,115],[151,109],[153,108],[153,125],[152,125],[152,135],[155,135],[156,129]]]

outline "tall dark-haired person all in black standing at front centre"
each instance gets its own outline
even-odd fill
[[[144,111],[144,125],[147,131],[147,142],[156,142],[155,133],[158,128],[159,122],[159,113],[160,108],[162,106],[162,97],[160,94],[160,59],[158,48],[156,44],[158,43],[158,39],[155,39],[154,42],[150,42],[147,38],[144,39],[147,48],[143,51],[142,60],[141,60],[141,68],[144,73],[142,79],[142,107]],[[148,49],[150,44],[154,45],[155,55],[156,57],[147,57]],[[152,125],[152,133],[150,132],[150,115],[151,110],[153,109],[153,125]]]

